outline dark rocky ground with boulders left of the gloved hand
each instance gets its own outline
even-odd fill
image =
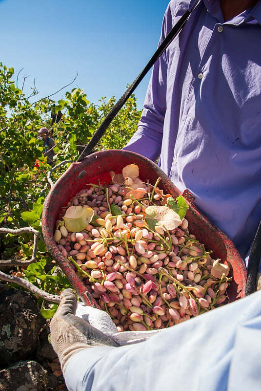
[[[36,298],[0,283],[0,391],[67,391]]]

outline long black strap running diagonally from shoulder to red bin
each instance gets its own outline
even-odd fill
[[[162,41],[162,43],[159,45],[158,49],[154,53],[154,55],[151,57],[148,64],[144,67],[144,69],[141,71],[139,76],[134,80],[134,82],[127,88],[125,93],[120,97],[120,99],[116,102],[116,104],[113,106],[113,108],[109,111],[109,113],[106,115],[102,123],[100,124],[99,128],[96,130],[94,135],[92,136],[91,140],[89,141],[88,145],[84,148],[84,150],[81,152],[80,157],[78,158],[78,162],[81,161],[85,156],[89,155],[93,148],[96,146],[96,144],[100,141],[100,138],[103,136],[105,131],[107,130],[108,126],[112,122],[113,118],[116,116],[116,114],[120,111],[122,106],[126,103],[128,98],[131,96],[133,91],[136,87],[141,83],[141,80],[143,77],[147,74],[147,72],[150,70],[150,68],[156,63],[156,61],[160,58],[163,51],[166,49],[166,47],[171,43],[171,41],[176,37],[176,35],[181,31],[181,28],[187,21],[189,15],[194,10],[196,5],[198,4],[200,0],[196,1],[191,10],[187,9],[187,11],[181,16],[179,21],[175,24],[175,26],[172,27],[168,35],[165,37],[165,39]]]

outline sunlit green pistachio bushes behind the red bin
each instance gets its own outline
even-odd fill
[[[0,224],[15,229],[30,225],[32,220],[34,227],[41,231],[39,211],[50,189],[47,181],[50,166],[42,154],[43,144],[37,131],[42,126],[50,130],[56,144],[55,165],[66,160],[77,161],[115,98],[108,102],[101,98],[97,107],[87,100],[82,89],[74,88],[58,102],[44,98],[32,103],[32,99],[36,100],[36,89],[32,88],[31,96],[26,97],[13,77],[14,69],[0,63]],[[62,117],[52,126],[51,114],[59,112]],[[140,115],[132,95],[95,150],[121,149],[137,129]],[[69,163],[61,165],[52,174],[52,180],[58,179],[68,166]],[[4,258],[21,248],[25,258],[32,253],[28,235],[19,239],[0,235],[0,241],[5,249]],[[45,248],[43,242],[41,245]]]

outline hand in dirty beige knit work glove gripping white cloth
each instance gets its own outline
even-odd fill
[[[59,307],[51,320],[51,344],[64,371],[70,357],[82,349],[98,346],[118,346],[110,337],[83,319],[75,316],[77,296],[73,289],[60,295]]]

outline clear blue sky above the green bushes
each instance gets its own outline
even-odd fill
[[[157,49],[169,0],[0,0],[0,61],[37,99],[71,83],[98,104],[119,99]],[[150,72],[149,72],[150,74]],[[142,108],[149,74],[135,91]]]

